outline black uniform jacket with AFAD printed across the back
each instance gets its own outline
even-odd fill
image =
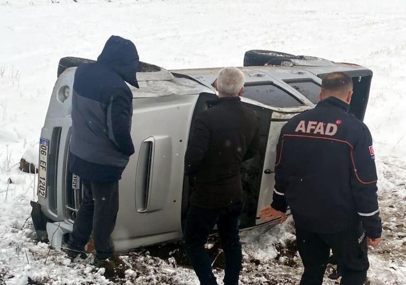
[[[272,206],[290,206],[296,227],[318,233],[362,221],[381,236],[372,138],[349,105],[329,97],[291,119],[281,131]]]

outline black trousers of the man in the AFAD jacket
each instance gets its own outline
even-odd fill
[[[362,285],[369,268],[365,233],[361,224],[334,234],[318,234],[296,228],[296,239],[304,272],[300,285],[321,285],[330,255],[342,273],[341,285]]]

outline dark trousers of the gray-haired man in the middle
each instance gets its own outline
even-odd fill
[[[217,285],[209,255],[205,251],[207,238],[216,224],[226,258],[224,284],[238,284],[242,263],[238,220],[242,210],[242,202],[221,209],[190,206],[183,241],[201,285]]]

